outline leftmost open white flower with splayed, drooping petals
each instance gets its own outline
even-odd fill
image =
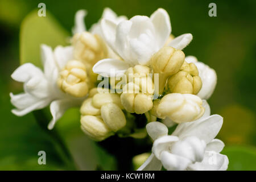
[[[69,96],[57,86],[59,72],[65,67],[67,61],[73,59],[73,48],[57,46],[53,52],[51,47],[42,45],[41,49],[44,71],[35,67],[34,64],[26,63],[20,65],[11,75],[15,81],[24,83],[24,93],[16,95],[10,93],[11,103],[16,107],[12,112],[22,116],[50,105],[52,120],[48,129],[52,129],[65,110],[79,105],[84,97]]]

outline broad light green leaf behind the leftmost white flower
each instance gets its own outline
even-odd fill
[[[20,27],[20,64],[33,63],[42,67],[40,45],[47,44],[52,48],[66,46],[68,32],[47,11],[46,16],[38,16],[32,11],[24,18]]]

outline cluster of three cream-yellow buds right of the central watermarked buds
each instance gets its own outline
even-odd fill
[[[154,101],[150,111],[158,118],[170,118],[176,123],[191,122],[204,114],[203,102],[196,94],[202,82],[193,63],[185,61],[183,51],[163,47],[151,59],[154,73],[159,73],[159,93],[166,87],[161,100]]]

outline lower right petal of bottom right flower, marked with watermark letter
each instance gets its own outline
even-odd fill
[[[225,171],[228,169],[229,159],[226,155],[214,151],[207,151],[201,163],[191,164],[188,170],[193,171]]]

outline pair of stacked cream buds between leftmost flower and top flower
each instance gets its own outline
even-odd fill
[[[93,88],[97,75],[92,66],[108,56],[108,49],[100,36],[89,32],[77,33],[72,38],[73,57],[60,71],[57,85],[74,97],[84,97]]]

